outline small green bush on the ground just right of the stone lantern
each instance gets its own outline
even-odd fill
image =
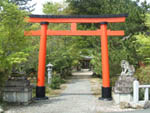
[[[60,75],[54,74],[51,79],[50,87],[52,89],[60,89],[61,83],[62,83],[62,79]]]

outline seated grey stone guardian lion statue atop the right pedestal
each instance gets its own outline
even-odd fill
[[[126,60],[121,61],[121,76],[132,76],[135,72],[135,68],[133,65],[129,65],[129,62]]]

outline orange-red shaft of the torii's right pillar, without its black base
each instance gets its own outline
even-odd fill
[[[110,87],[107,24],[101,25],[101,33],[102,82],[103,87]]]

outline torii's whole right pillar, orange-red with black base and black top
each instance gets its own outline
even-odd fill
[[[103,100],[111,100],[111,87],[109,77],[107,22],[101,23],[101,55],[102,55],[102,97]]]

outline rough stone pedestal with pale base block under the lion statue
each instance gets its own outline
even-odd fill
[[[113,89],[113,100],[116,104],[120,102],[132,102],[133,81],[132,76],[120,76]]]

